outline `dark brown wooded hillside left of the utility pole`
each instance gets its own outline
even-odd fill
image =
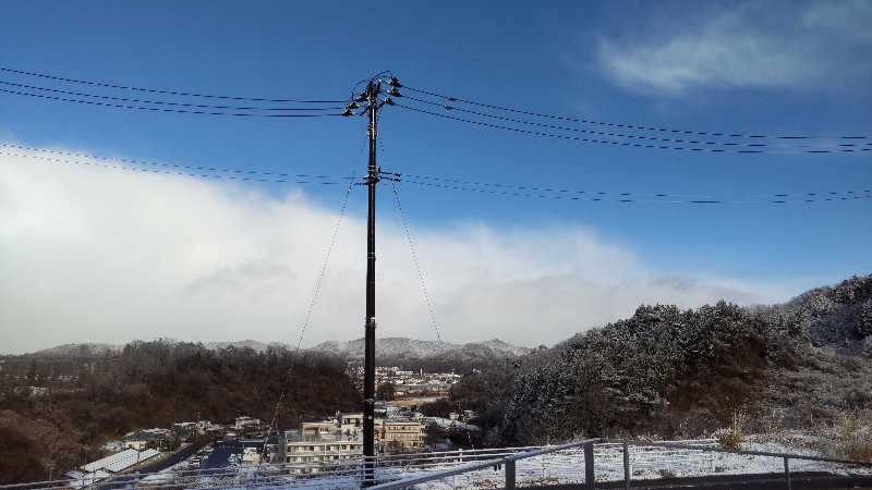
[[[46,478],[51,465],[57,475],[99,456],[106,440],[138,428],[197,418],[227,424],[238,415],[268,420],[286,379],[280,427],[360,406],[341,362],[312,354],[294,358],[286,350],[137,341],[119,353],[37,356],[25,364],[24,384],[50,389],[34,394],[21,389],[21,379],[0,378],[0,482]],[[71,366],[77,379],[58,381],[57,373]]]

